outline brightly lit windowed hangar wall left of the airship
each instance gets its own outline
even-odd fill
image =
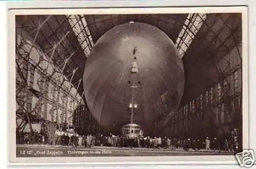
[[[16,23],[16,129],[28,123],[77,126],[74,112],[84,102],[77,89]],[[90,112],[89,112],[90,113]],[[97,126],[93,116],[84,123]]]

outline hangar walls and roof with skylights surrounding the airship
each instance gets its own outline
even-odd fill
[[[156,119],[158,135],[242,137],[240,13],[16,16],[16,130],[33,124],[77,133],[108,133],[91,114],[82,75],[97,40],[130,21],[148,23],[172,39],[184,64],[179,108]],[[136,115],[135,115],[136,116]]]

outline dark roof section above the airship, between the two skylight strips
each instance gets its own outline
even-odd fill
[[[108,30],[130,21],[148,23],[176,40],[187,14],[84,15],[94,43]]]

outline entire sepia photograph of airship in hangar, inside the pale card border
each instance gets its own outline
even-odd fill
[[[15,14],[15,157],[234,157],[243,15]]]

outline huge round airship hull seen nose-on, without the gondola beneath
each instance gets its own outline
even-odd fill
[[[183,63],[163,31],[147,23],[124,23],[95,43],[84,68],[83,89],[104,129],[119,134],[122,126],[134,123],[150,135],[179,106]]]

